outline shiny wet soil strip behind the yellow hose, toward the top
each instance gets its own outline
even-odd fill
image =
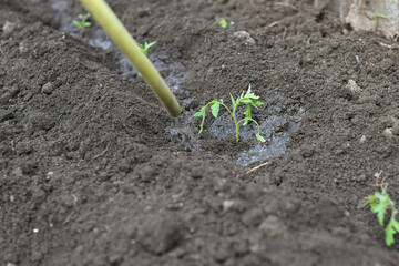
[[[31,1],[34,3],[43,2],[43,0]],[[80,29],[73,25],[73,20],[76,18],[72,18],[66,13],[69,1],[70,0],[49,0],[48,2],[54,12],[54,21],[60,24],[58,30],[65,32],[74,38],[80,38]],[[89,44],[101,48],[103,50],[112,49],[115,61],[113,69],[117,74],[125,79],[137,78],[137,71],[133,64],[116,49],[111,39],[102,29],[95,27],[86,29],[86,35],[90,35],[88,39]],[[177,91],[181,83],[188,74],[187,68],[184,66],[183,63],[178,60],[170,58],[166,52],[151,53],[150,50],[149,58],[164,78],[171,90],[173,92]]]

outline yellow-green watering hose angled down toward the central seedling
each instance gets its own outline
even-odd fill
[[[139,73],[149,83],[153,92],[166,108],[168,114],[173,117],[178,116],[182,109],[175,96],[149,58],[140,50],[137,42],[131,37],[126,28],[111,10],[110,6],[108,6],[104,0],[80,1],[90,11],[96,22],[106,31],[123,54],[133,63]]]

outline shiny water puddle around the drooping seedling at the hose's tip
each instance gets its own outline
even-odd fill
[[[289,141],[291,132],[300,125],[300,120],[305,116],[305,110],[300,103],[274,93],[267,95],[264,100],[266,106],[262,112],[254,111],[255,117],[260,125],[260,134],[265,137],[265,143],[256,142],[257,126],[249,123],[246,126],[239,126],[241,140],[253,140],[254,147],[242,152],[234,157],[223,157],[237,163],[239,165],[248,165],[257,161],[265,161],[270,157],[277,157],[285,153],[286,144]],[[242,110],[241,110],[242,111]],[[241,112],[238,111],[238,113]],[[191,117],[190,117],[191,115]],[[184,147],[188,151],[197,151],[201,149],[201,137],[192,129],[197,130],[198,120],[192,117],[193,114],[185,114],[183,123],[185,127],[170,129],[170,134],[177,139],[180,136]],[[177,129],[177,130],[176,130]],[[235,134],[235,126],[228,113],[223,113],[213,124],[205,129],[214,137],[226,139],[229,134]]]

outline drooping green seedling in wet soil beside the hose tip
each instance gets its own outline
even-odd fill
[[[231,109],[227,108],[226,104],[224,104],[223,99],[221,100],[213,100],[212,102],[207,103],[206,105],[202,106],[200,112],[195,113],[194,116],[195,117],[203,117],[202,123],[200,125],[200,132],[198,134],[201,134],[204,130],[204,123],[205,123],[205,115],[206,115],[206,108],[208,105],[211,105],[211,111],[213,116],[215,116],[215,119],[217,119],[221,105],[224,106],[227,112],[232,115],[235,127],[236,127],[236,142],[238,142],[239,137],[238,137],[238,126],[241,123],[243,123],[243,125],[248,124],[249,121],[254,122],[257,127],[258,127],[258,133],[256,134],[256,140],[258,142],[265,142],[265,139],[260,135],[260,125],[258,124],[258,122],[256,122],[253,117],[252,117],[252,106],[259,109],[260,105],[263,105],[263,102],[257,101],[257,99],[259,99],[259,96],[255,95],[254,93],[250,92],[250,84],[248,85],[248,91],[244,94],[244,92],[241,94],[241,96],[237,98],[237,100],[234,100],[233,95],[231,94],[231,99],[232,99],[232,103],[233,103],[233,111]],[[244,115],[245,117],[239,120],[237,122],[237,117],[236,117],[236,111],[238,105],[243,103],[246,104],[245,110],[244,110]]]

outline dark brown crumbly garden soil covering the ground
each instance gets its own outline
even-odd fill
[[[1,265],[399,265],[359,207],[383,184],[399,201],[395,40],[311,1],[109,1],[177,76],[177,129],[113,47],[90,44],[94,21],[65,27],[81,4],[57,3],[0,0]],[[286,141],[243,164],[254,135],[218,137],[211,114],[197,135],[192,116],[249,83],[254,119],[286,117],[263,145]]]

